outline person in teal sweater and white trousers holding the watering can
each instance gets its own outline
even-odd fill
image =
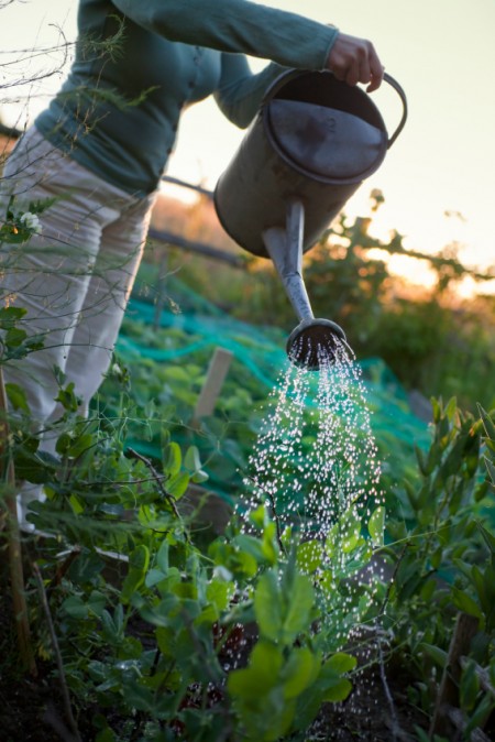
[[[245,55],[268,64],[254,74]],[[384,73],[371,42],[249,0],[79,0],[69,75],[0,183],[3,214],[53,199],[2,286],[4,302],[28,310],[29,332],[45,334],[43,350],[4,369],[40,433],[61,413],[56,367],[82,414],[108,370],[182,111],[212,95],[245,128],[287,67],[329,69],[370,91]],[[42,448],[53,447],[46,434]]]

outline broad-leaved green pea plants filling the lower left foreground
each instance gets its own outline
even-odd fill
[[[356,661],[318,628],[321,602],[296,546],[280,548],[261,509],[252,533],[233,520],[199,548],[194,514],[182,512],[188,487],[205,481],[198,450],[183,452],[164,428],[152,461],[125,447],[127,416],[81,418],[73,385],[58,381],[56,456],[40,455],[14,385],[11,452],[47,498],[30,520],[44,534],[36,569],[57,644],[40,613],[35,650],[59,655],[76,725],[96,708],[98,742],[305,739],[321,706],[351,691]]]

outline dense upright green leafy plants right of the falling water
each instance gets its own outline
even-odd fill
[[[483,421],[493,432],[492,417],[483,413]],[[435,710],[457,616],[462,612],[475,619],[477,631],[458,688],[466,719],[463,739],[470,739],[495,708],[490,681],[484,688],[480,684],[480,672],[486,677],[495,672],[493,497],[480,468],[481,421],[461,414],[451,400],[447,405],[433,401],[433,423],[429,451],[417,451],[421,483],[406,483],[408,520],[387,524],[394,579],[384,615],[404,661],[415,668],[411,697],[428,717]]]

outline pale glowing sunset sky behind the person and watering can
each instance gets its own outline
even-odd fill
[[[424,251],[457,241],[464,245],[460,255],[468,264],[495,264],[495,1],[272,0],[265,4],[299,13],[304,8],[316,20],[372,40],[387,72],[406,90],[406,129],[346,211],[366,214],[370,192],[380,188],[385,205],[374,221],[378,236],[397,229],[406,236],[406,247]],[[53,75],[29,87],[6,88],[36,68],[56,67],[61,58],[59,53],[42,54],[6,66],[15,58],[9,52],[55,45],[56,26],[73,40],[76,7],[76,0],[13,0],[10,4],[0,0],[0,116],[8,123],[32,120],[61,81],[59,75]],[[30,54],[23,56],[28,59]],[[262,64],[254,61],[253,68]],[[400,114],[396,94],[383,86],[373,96],[392,132]],[[183,117],[168,174],[213,187],[242,137],[211,100],[191,108]]]

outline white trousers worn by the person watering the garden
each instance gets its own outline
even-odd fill
[[[42,430],[59,414],[54,367],[73,381],[85,414],[109,367],[134,283],[155,194],[132,196],[97,177],[30,129],[0,181],[0,219],[55,198],[42,232],[21,245],[0,245],[0,301],[24,307],[28,332],[47,334],[43,350],[3,369],[24,388]],[[45,439],[42,448],[51,450]]]

